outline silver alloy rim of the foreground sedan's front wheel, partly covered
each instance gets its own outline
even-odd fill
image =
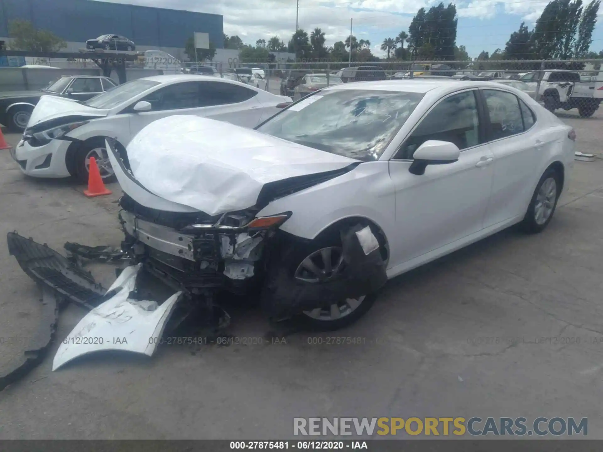
[[[338,276],[344,268],[343,250],[340,246],[327,246],[309,254],[295,270],[295,278],[307,283],[326,282]],[[366,295],[348,298],[332,304],[329,309],[317,307],[304,311],[310,318],[321,321],[335,321],[350,315],[362,304]]]

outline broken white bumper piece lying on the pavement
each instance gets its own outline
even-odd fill
[[[52,370],[69,361],[102,350],[121,350],[152,356],[175,304],[182,292],[164,301],[128,298],[136,287],[136,276],[142,264],[129,266],[121,272],[107,293],[112,298],[95,307],[69,333],[52,362]]]

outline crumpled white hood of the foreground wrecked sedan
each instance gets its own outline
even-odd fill
[[[360,163],[227,122],[181,115],[142,129],[127,154],[133,176],[148,192],[209,215],[256,205],[268,183]]]

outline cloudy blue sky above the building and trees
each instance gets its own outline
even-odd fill
[[[295,31],[297,0],[109,0],[144,6],[222,14],[224,33],[237,34],[245,43],[279,36],[287,42]],[[586,0],[585,2],[587,2]],[[383,55],[379,47],[387,37],[408,32],[412,17],[421,7],[437,5],[440,0],[299,0],[299,27],[310,32],[321,28],[327,45],[345,40],[350,34],[368,39],[373,53]],[[504,48],[509,36],[522,20],[533,27],[548,0],[458,0],[456,43],[464,45],[476,57],[482,50]],[[447,4],[447,2],[444,2]],[[603,8],[602,8],[603,9]],[[603,49],[603,17],[593,36],[591,50]]]

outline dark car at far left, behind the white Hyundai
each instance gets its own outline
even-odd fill
[[[22,132],[30,120],[37,102],[44,95],[61,96],[74,101],[86,101],[112,89],[117,84],[98,75],[63,75],[37,91],[0,93],[0,124],[15,132]]]

